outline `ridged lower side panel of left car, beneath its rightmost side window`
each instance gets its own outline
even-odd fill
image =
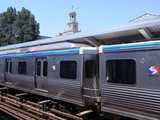
[[[83,105],[80,81],[73,80],[52,80],[49,82],[49,93],[67,102]]]

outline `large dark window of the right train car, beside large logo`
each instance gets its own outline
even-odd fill
[[[136,63],[131,59],[108,60],[106,62],[106,76],[110,83],[135,84]]]

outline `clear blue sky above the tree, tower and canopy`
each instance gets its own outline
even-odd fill
[[[66,29],[72,5],[83,32],[121,26],[146,12],[160,15],[160,0],[0,0],[0,12],[25,7],[40,23],[41,35],[55,36]]]

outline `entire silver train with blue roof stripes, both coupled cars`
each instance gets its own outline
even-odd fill
[[[95,37],[56,39],[1,47],[0,85],[103,116],[160,119],[159,39],[99,46]]]

